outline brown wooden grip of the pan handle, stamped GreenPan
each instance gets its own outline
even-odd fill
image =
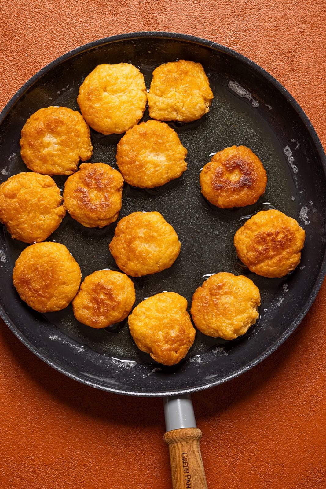
[[[164,441],[169,446],[173,489],[207,489],[201,459],[198,428],[167,431]]]

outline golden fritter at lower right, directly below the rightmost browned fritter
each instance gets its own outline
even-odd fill
[[[220,272],[196,289],[191,314],[199,331],[230,340],[257,321],[260,304],[260,292],[252,280]]]

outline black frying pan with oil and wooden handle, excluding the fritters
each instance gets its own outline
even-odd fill
[[[182,244],[171,268],[134,279],[135,305],[163,290],[180,293],[190,305],[195,289],[210,274],[241,273],[261,291],[256,325],[232,341],[197,331],[185,359],[164,367],[137,349],[126,321],[93,330],[76,321],[71,305],[48,314],[28,308],[12,284],[15,260],[26,244],[12,240],[4,226],[0,231],[0,315],[27,348],[71,378],[105,391],[165,397],[165,439],[174,457],[174,484],[195,488],[205,483],[203,472],[194,475],[201,463],[200,431],[189,394],[240,375],[276,350],[303,319],[326,272],[326,157],[303,110],[261,67],[219,44],[165,32],[114,36],[61,56],[10,100],[0,114],[0,181],[27,171],[19,147],[26,119],[49,105],[78,110],[78,88],[96,65],[130,62],[139,67],[149,88],[153,69],[177,59],[203,65],[215,98],[210,112],[199,121],[169,123],[188,149],[188,170],[180,178],[152,190],[124,187],[119,218],[134,211],[159,211],[174,226]],[[143,120],[148,118],[146,111]],[[91,130],[94,153],[90,161],[117,168],[120,137]],[[268,182],[265,194],[254,205],[222,210],[201,196],[199,171],[212,153],[232,145],[248,146],[260,157]],[[61,189],[65,178],[54,177]],[[295,218],[306,231],[301,263],[282,279],[250,273],[233,246],[233,236],[245,219],[269,208]],[[115,225],[87,229],[67,215],[47,241],[65,244],[84,277],[103,268],[118,270],[108,246]]]

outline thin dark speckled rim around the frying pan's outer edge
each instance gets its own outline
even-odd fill
[[[53,67],[56,67],[60,65],[63,61],[72,58],[76,56],[77,54],[80,54],[84,51],[87,51],[89,49],[92,49],[97,46],[102,46],[104,44],[112,44],[115,42],[119,41],[125,41],[125,40],[130,40],[130,39],[139,39],[139,38],[161,38],[161,39],[172,39],[172,40],[182,40],[186,41],[189,43],[194,43],[194,44],[199,44],[207,47],[211,47],[212,49],[215,49],[217,51],[221,51],[225,54],[228,54],[232,56],[233,58],[238,59],[245,65],[251,67],[252,69],[256,70],[259,74],[261,74],[265,79],[267,79],[276,89],[278,89],[285,99],[291,104],[293,109],[297,112],[299,117],[302,119],[305,128],[307,129],[308,133],[310,134],[313,143],[316,147],[316,150],[318,152],[318,155],[320,157],[320,160],[323,165],[324,173],[326,175],[326,155],[323,149],[323,146],[321,144],[321,141],[312,126],[309,118],[307,115],[304,113],[303,109],[300,107],[298,102],[293,98],[293,96],[283,87],[283,85],[278,82],[271,74],[269,74],[266,70],[264,70],[262,67],[251,61],[249,58],[243,56],[242,54],[238,53],[237,51],[234,51],[233,49],[230,49],[228,47],[225,47],[221,44],[215,43],[213,41],[209,41],[200,37],[192,36],[189,34],[180,34],[180,33],[175,33],[175,32],[164,32],[164,31],[141,31],[141,32],[130,32],[130,33],[125,33],[125,34],[119,34],[115,36],[110,36],[106,38],[102,38],[96,41],[92,41],[87,44],[83,44],[82,46],[79,46],[77,48],[74,48],[67,53],[63,54],[59,58],[53,60],[51,63],[46,65],[45,67],[41,68],[35,75],[33,75],[27,82],[24,83],[24,85],[13,95],[13,97],[9,100],[9,102],[5,105],[3,110],[0,112],[0,124],[3,122],[5,116],[9,113],[9,111],[12,109],[12,107],[15,105],[15,103],[22,97],[22,95],[32,87],[32,85],[39,80],[44,74],[46,74],[48,71],[50,71]],[[48,358],[44,353],[40,352],[32,343],[30,343],[24,336],[23,334],[17,329],[17,327],[14,325],[14,323],[11,321],[11,319],[8,317],[8,315],[5,313],[3,310],[2,306],[0,305],[0,317],[3,319],[5,324],[8,326],[8,328],[18,337],[18,339],[23,343],[24,346],[26,346],[34,355],[38,356],[41,360],[43,360],[45,363],[50,365],[52,368],[55,370],[61,372],[62,374],[65,374],[67,377],[72,378],[74,380],[77,380],[83,384],[86,384],[90,387],[94,387],[99,390],[107,391],[107,392],[112,392],[115,394],[122,394],[122,395],[128,395],[128,396],[134,396],[134,397],[163,397],[163,396],[178,396],[181,394],[190,394],[192,392],[198,392],[202,391],[205,389],[209,389],[211,387],[217,386],[219,384],[222,384],[224,382],[227,382],[228,380],[231,380],[233,378],[238,377],[239,375],[247,372],[251,368],[255,367],[260,363],[262,360],[267,358],[269,355],[271,355],[279,346],[282,345],[282,343],[294,332],[294,330],[297,328],[297,326],[301,323],[301,321],[304,319],[304,316],[306,313],[309,311],[312,303],[314,302],[317,293],[319,289],[322,286],[322,283],[324,281],[324,277],[326,274],[326,253],[323,258],[322,265],[319,270],[319,274],[317,277],[317,280],[314,284],[314,287],[312,288],[309,297],[307,298],[306,302],[303,305],[303,308],[301,309],[300,313],[297,315],[296,319],[289,325],[287,330],[275,341],[271,346],[269,346],[261,355],[256,357],[254,360],[251,360],[248,362],[246,365],[243,367],[239,368],[235,372],[232,372],[229,375],[226,375],[218,380],[214,380],[212,382],[207,382],[203,385],[199,385],[196,387],[187,387],[184,389],[176,389],[176,390],[171,390],[169,392],[167,391],[162,391],[162,392],[141,392],[141,391],[129,391],[129,390],[124,390],[124,389],[119,389],[115,388],[112,386],[107,386],[107,385],[102,385],[100,383],[94,382],[89,380],[88,378],[84,378],[82,375],[75,375],[72,372],[69,372],[65,368],[61,367],[60,365],[56,364],[53,360]]]

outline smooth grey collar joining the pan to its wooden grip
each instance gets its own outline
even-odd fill
[[[193,403],[190,394],[163,398],[166,431],[180,428],[196,428]]]

